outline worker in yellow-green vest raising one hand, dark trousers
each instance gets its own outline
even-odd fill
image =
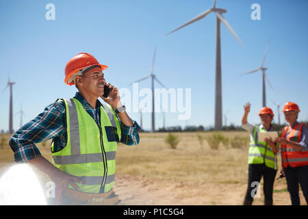
[[[251,103],[244,105],[244,116],[242,118],[242,128],[250,133],[251,143],[248,153],[248,186],[243,205],[252,205],[255,197],[256,186],[259,186],[261,177],[264,178],[264,205],[272,205],[272,192],[274,179],[277,173],[278,144],[270,142],[270,139],[261,142],[259,133],[273,131],[272,118],[274,114],[270,107],[262,107],[259,111],[261,125],[251,125],[247,122],[247,117],[251,111]]]

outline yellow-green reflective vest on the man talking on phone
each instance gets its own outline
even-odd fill
[[[66,106],[67,144],[52,153],[53,164],[82,181],[76,183],[80,192],[109,192],[114,185],[116,149],[121,136],[114,110],[110,105],[100,107],[99,127],[77,99],[61,101]],[[71,185],[68,189],[75,190]]]

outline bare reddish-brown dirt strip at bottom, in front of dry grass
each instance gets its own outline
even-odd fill
[[[284,180],[284,179],[279,179]],[[172,182],[131,175],[116,175],[114,186],[123,205],[242,205],[246,185],[240,183]],[[262,190],[262,189],[261,189]],[[285,185],[275,185],[274,205],[291,205]],[[305,198],[300,191],[300,201]],[[253,205],[263,205],[264,196],[255,198]]]

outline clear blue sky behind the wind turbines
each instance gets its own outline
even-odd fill
[[[47,21],[45,6],[55,5],[55,20]],[[190,120],[179,113],[166,113],[166,125],[214,125],[214,82],[216,16],[164,36],[172,29],[212,7],[213,0],[143,1],[1,1],[0,2],[0,130],[8,130],[10,75],[16,82],[14,129],[20,126],[16,114],[22,107],[23,123],[58,98],[70,98],[77,89],[64,84],[66,62],[77,53],[94,55],[109,66],[105,78],[114,86],[148,75],[157,48],[154,74],[168,88],[191,88]],[[251,19],[251,5],[261,6],[261,20]],[[240,77],[260,66],[271,39],[264,66],[274,89],[266,84],[267,103],[293,101],[300,107],[299,120],[308,120],[308,1],[305,0],[218,0],[223,14],[244,47],[221,24],[222,111],[227,124],[240,125],[243,105],[252,103],[248,121],[259,123],[261,73]],[[156,88],[161,88],[155,84]],[[139,88],[151,88],[149,79]],[[282,107],[281,107],[282,109]],[[16,115],[15,115],[16,114]],[[129,113],[139,121],[138,113]],[[151,127],[151,114],[143,114],[144,129]],[[156,114],[156,128],[162,114]],[[281,114],[281,121],[284,116]]]

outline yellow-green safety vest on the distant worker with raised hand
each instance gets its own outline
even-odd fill
[[[266,132],[264,127],[255,126],[253,139],[249,144],[248,164],[266,164],[269,168],[277,170],[277,159],[266,142],[259,142],[258,133]]]

